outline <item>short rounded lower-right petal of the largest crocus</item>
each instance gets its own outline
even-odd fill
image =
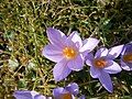
[[[80,70],[84,66],[84,57],[81,55],[78,55],[75,59],[70,59],[67,64],[68,68],[72,70]]]

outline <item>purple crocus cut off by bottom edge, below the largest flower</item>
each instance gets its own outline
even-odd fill
[[[55,99],[75,99],[74,96],[78,95],[78,85],[75,82],[69,84],[65,88],[58,87],[53,90]]]

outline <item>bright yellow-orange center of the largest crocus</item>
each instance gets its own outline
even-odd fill
[[[75,57],[76,57],[77,52],[76,52],[74,48],[72,48],[72,47],[65,47],[65,48],[63,50],[63,54],[64,54],[64,56],[65,56],[67,59],[72,59],[72,58],[75,58]]]

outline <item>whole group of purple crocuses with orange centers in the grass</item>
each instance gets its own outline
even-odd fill
[[[65,79],[72,70],[81,70],[86,63],[90,66],[91,77],[98,78],[102,86],[112,92],[110,74],[118,74],[122,68],[132,70],[132,43],[113,46],[109,50],[101,47],[94,55],[94,50],[99,43],[99,40],[95,37],[81,40],[77,31],[65,35],[62,31],[53,28],[47,28],[46,33],[50,44],[43,48],[42,55],[56,63],[53,68],[55,81]],[[120,63],[117,62],[117,58],[120,58]],[[53,96],[55,99],[75,99],[79,92],[77,84],[72,82],[65,88],[55,88]],[[14,97],[16,99],[46,99],[45,96],[35,91],[15,91]],[[79,99],[85,99],[85,97],[81,96]]]

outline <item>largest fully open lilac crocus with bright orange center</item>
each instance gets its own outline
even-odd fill
[[[76,31],[68,37],[56,29],[48,28],[46,32],[50,44],[43,48],[42,54],[57,63],[53,69],[56,81],[66,78],[72,70],[82,69],[86,53],[99,43],[99,40],[92,37],[82,41]]]

